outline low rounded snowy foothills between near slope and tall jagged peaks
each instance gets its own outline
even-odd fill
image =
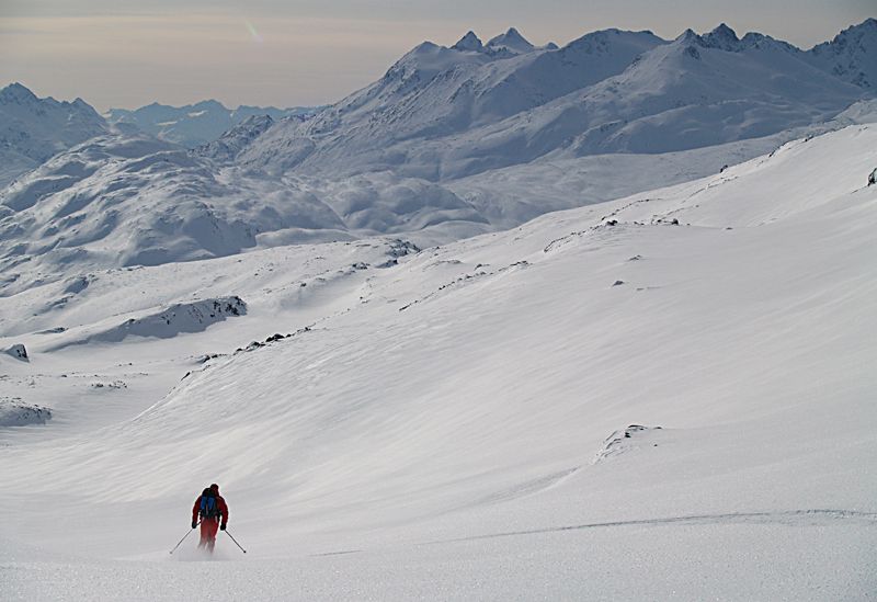
[[[798,135],[869,115],[863,109]],[[22,175],[0,192],[0,294],[65,280],[71,271],[377,234],[405,235],[419,246],[446,243],[715,173],[795,135],[662,155],[561,158],[444,183],[391,172],[277,179],[221,167],[267,125],[253,117],[190,152],[145,134],[96,137]]]

